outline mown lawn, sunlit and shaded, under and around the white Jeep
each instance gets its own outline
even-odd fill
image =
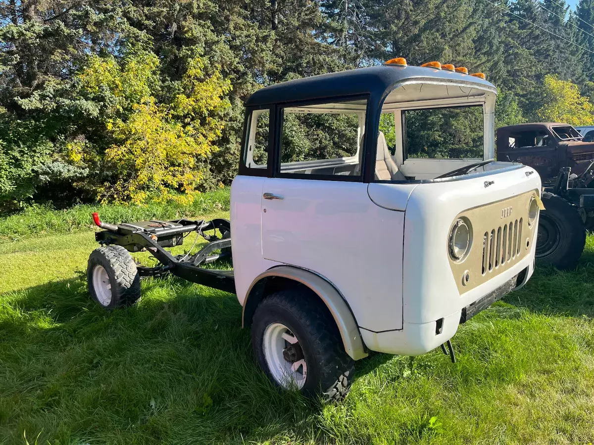
[[[91,232],[0,246],[2,444],[593,440],[593,236],[577,271],[538,269],[460,326],[456,364],[373,354],[326,406],[267,382],[234,295],[154,279],[137,306],[99,309],[81,279],[94,247]]]

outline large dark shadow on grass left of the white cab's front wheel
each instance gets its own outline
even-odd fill
[[[318,434],[320,404],[279,393],[255,364],[235,295],[176,278],[143,281],[143,295],[108,312],[83,276],[0,295],[0,442]]]

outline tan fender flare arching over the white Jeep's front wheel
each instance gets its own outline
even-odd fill
[[[244,301],[244,328],[251,326],[256,307],[268,295],[298,285],[307,287],[326,305],[339,329],[346,353],[353,360],[367,357],[355,317],[339,291],[321,276],[293,266],[277,266],[254,279]]]

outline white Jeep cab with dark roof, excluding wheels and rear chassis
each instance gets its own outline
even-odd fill
[[[380,87],[367,94],[365,85],[349,83],[359,79]],[[361,95],[339,97],[346,87],[337,82]],[[244,311],[258,276],[275,266],[305,269],[347,303],[364,347],[418,355],[444,344],[476,307],[530,278],[538,226],[538,210],[530,209],[539,202],[541,180],[522,164],[488,161],[494,158],[493,85],[429,68],[384,66],[260,93],[248,103],[240,174],[231,187],[233,267]],[[328,94],[326,101],[321,94]],[[474,133],[466,132],[473,135],[472,150],[459,144],[440,151],[412,134],[424,116],[456,113],[468,119],[457,122],[475,125]],[[270,124],[258,127],[255,119],[264,115]],[[320,122],[340,125],[319,132]],[[386,130],[385,122],[393,128]],[[311,123],[318,126],[299,130]],[[349,125],[350,142],[344,132],[334,139],[335,151],[317,148],[317,139]],[[299,158],[299,150],[307,155]],[[484,166],[475,166],[481,161]],[[472,171],[453,172],[465,167]],[[453,228],[460,221],[469,242],[456,256]]]

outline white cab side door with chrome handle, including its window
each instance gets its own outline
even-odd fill
[[[261,252],[323,276],[358,325],[378,332],[402,329],[404,212],[375,205],[362,181],[364,113],[360,101],[280,110],[279,159],[262,188]]]

